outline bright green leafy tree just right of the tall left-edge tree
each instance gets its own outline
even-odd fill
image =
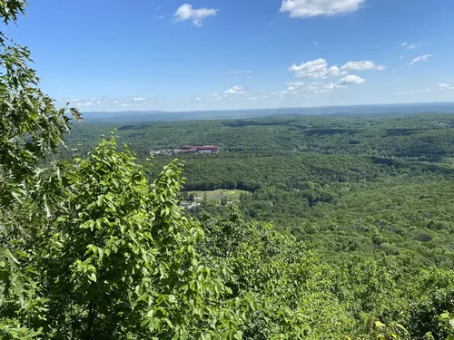
[[[191,339],[224,290],[201,266],[202,230],[178,208],[180,169],[150,186],[115,140],[64,174],[54,219],[35,244],[48,301],[31,322],[57,339]],[[210,332],[206,333],[209,334]]]

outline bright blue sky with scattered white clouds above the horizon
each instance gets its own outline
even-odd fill
[[[45,0],[5,33],[83,112],[454,102],[452,0]]]

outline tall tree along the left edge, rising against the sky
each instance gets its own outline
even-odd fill
[[[0,17],[10,24],[24,13],[25,1],[1,1]],[[44,310],[29,258],[35,236],[51,218],[58,167],[37,164],[62,144],[68,131],[64,109],[38,87],[30,52],[0,32],[0,333],[2,338],[39,334],[29,316]],[[47,173],[44,176],[44,173]],[[52,195],[50,195],[52,196]]]

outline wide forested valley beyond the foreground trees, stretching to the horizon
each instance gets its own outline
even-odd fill
[[[216,144],[220,154],[174,157],[185,190],[243,190],[248,219],[272,221],[329,261],[412,254],[454,268],[454,115],[275,116],[227,121],[76,124],[68,145],[91,150],[113,131],[140,161],[152,150]],[[67,152],[65,150],[64,152]],[[219,200],[192,209],[222,215]]]

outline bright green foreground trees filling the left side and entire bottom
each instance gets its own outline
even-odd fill
[[[24,10],[25,1],[8,1],[0,16],[7,24]],[[2,35],[0,55],[2,339],[454,336],[451,270],[411,254],[331,265],[234,205],[193,219],[178,204],[181,165],[153,175],[114,137],[59,158],[65,109],[39,89],[25,47]],[[326,186],[312,180],[292,179],[284,191],[305,199],[305,209],[329,204]]]

